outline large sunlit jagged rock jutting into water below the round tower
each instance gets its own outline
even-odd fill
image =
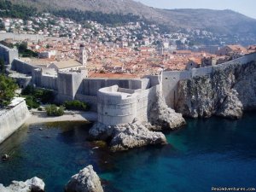
[[[110,143],[112,151],[123,151],[129,148],[167,143],[163,133],[149,131],[138,121],[132,124],[115,125],[113,132],[113,139]]]

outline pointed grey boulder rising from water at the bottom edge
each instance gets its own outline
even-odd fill
[[[100,177],[94,172],[93,166],[86,166],[73,175],[65,186],[65,192],[103,192]]]

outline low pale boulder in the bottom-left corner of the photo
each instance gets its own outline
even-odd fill
[[[8,187],[0,184],[1,192],[44,192],[44,181],[38,177],[22,181],[13,181]]]

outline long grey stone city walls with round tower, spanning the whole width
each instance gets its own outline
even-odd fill
[[[233,64],[242,65],[256,61],[256,53],[253,53],[217,66],[166,71],[160,75],[148,75],[143,79],[94,79],[88,78],[87,54],[84,45],[80,46],[79,62],[82,67],[75,70],[71,68],[69,71],[56,71],[55,74],[52,73],[52,68],[39,68],[20,61],[17,50],[3,45],[0,45],[0,56],[12,70],[20,73],[16,78],[20,87],[34,84],[37,87],[55,90],[57,102],[74,99],[88,102],[92,110],[99,113],[100,122],[105,122],[106,118],[111,122],[112,119],[109,117],[119,119],[113,120],[111,124],[126,123],[134,117],[146,120],[145,108],[154,102],[158,91],[163,94],[168,107],[175,108],[178,98],[177,84],[180,80],[209,75]],[[112,110],[113,108],[115,109]]]

